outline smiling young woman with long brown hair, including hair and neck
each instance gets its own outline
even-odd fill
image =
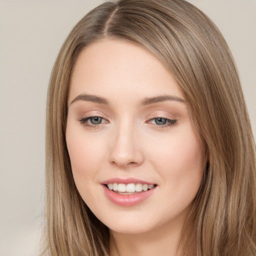
[[[254,255],[255,146],[231,53],[183,0],[90,11],[47,101],[50,255]]]

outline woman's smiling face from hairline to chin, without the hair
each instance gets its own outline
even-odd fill
[[[146,50],[106,39],[83,49],[66,143],[81,197],[110,230],[182,228],[202,179],[202,147],[177,83]]]

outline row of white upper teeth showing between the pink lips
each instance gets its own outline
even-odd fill
[[[141,184],[141,183],[129,183],[129,184],[123,184],[123,183],[108,183],[107,184],[108,189],[118,191],[118,192],[141,192],[146,191],[148,189],[152,189],[154,187],[153,184]]]

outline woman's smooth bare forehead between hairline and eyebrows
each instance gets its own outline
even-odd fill
[[[70,99],[80,93],[182,97],[175,79],[156,57],[133,43],[110,39],[93,42],[81,51],[69,93]]]

